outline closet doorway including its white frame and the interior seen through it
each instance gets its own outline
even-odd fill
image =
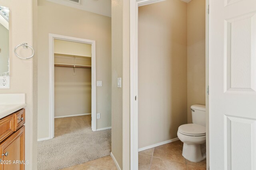
[[[49,34],[49,56],[50,139],[90,123],[96,131],[95,41]]]

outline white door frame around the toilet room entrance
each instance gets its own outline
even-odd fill
[[[130,0],[130,169],[138,170],[138,7],[164,0]],[[209,158],[209,0],[206,0],[206,157]],[[208,168],[207,168],[208,169]]]

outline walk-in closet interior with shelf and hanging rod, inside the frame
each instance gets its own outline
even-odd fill
[[[91,127],[92,45],[54,39],[54,136]]]

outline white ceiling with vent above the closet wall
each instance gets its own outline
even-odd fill
[[[48,1],[111,17],[111,0],[81,0],[81,5],[69,2],[68,0]]]

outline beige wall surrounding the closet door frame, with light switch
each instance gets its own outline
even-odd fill
[[[111,18],[38,1],[38,139],[49,136],[49,33],[96,41],[97,129],[111,126]]]

